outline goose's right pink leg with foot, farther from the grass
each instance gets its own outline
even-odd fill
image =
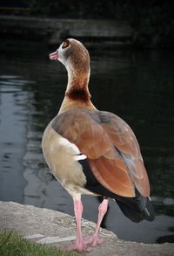
[[[91,246],[101,245],[104,242],[104,239],[98,238],[98,233],[100,229],[100,225],[104,218],[104,215],[108,209],[109,199],[104,198],[103,202],[98,207],[98,218],[97,218],[97,226],[94,234],[90,238],[85,238],[85,243],[90,244]]]

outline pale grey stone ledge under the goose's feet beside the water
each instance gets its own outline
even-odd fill
[[[0,202],[0,230],[17,231],[23,237],[34,239],[38,243],[52,244],[63,248],[70,239],[75,237],[75,219],[60,211],[37,208],[13,202]],[[90,234],[95,224],[83,219],[83,232]],[[31,237],[29,237],[31,236]],[[173,244],[148,245],[136,242],[126,242],[117,239],[113,232],[101,229],[100,236],[105,239],[104,245],[97,246],[89,256],[129,255],[129,256],[171,256]]]

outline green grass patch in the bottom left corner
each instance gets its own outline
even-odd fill
[[[17,232],[0,232],[1,256],[77,256],[77,253],[67,253],[53,246],[38,245],[20,237]]]

